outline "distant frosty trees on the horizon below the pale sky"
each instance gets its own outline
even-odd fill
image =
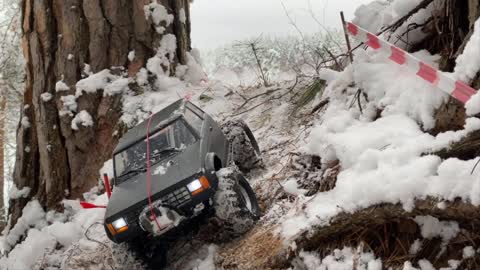
[[[252,44],[255,50],[252,50]],[[275,77],[288,71],[302,76],[316,76],[320,69],[335,64],[330,53],[342,54],[343,48],[339,44],[343,44],[343,36],[336,31],[301,37],[260,36],[208,52],[205,66],[210,73],[224,68],[235,72],[253,69],[262,83],[263,78]],[[263,74],[259,66],[262,67]]]

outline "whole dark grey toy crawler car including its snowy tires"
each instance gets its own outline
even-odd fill
[[[259,162],[258,144],[244,122],[220,126],[193,103],[178,100],[120,139],[105,231],[116,243],[138,242],[208,215],[233,236],[244,233],[260,210],[243,172]]]

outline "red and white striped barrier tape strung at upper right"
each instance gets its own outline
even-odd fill
[[[475,93],[477,93],[477,90],[473,89],[468,84],[462,81],[453,80],[441,71],[436,70],[434,67],[422,62],[415,56],[385,40],[382,40],[375,34],[368,32],[358,25],[349,22],[347,23],[347,30],[350,35],[358,41],[365,43],[370,48],[379,51],[380,53],[386,54],[390,60],[398,65],[405,65],[420,78],[431,83],[464,104]]]

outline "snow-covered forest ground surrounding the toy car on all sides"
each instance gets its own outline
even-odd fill
[[[360,7],[355,21],[377,32],[419,2],[376,1]],[[431,9],[441,5],[442,1],[434,1],[411,20],[421,22]],[[475,27],[480,25],[477,23]],[[402,31],[399,29],[397,31]],[[472,40],[478,40],[479,35],[479,31],[475,31]],[[325,91],[310,104],[295,110],[292,100],[305,89],[304,80],[295,82],[291,76],[281,77],[268,88],[241,87],[238,77],[231,79],[225,72],[213,76],[221,81],[209,80],[199,68],[196,53],[190,55],[185,68],[177,68],[181,72],[176,77],[168,77],[170,74],[165,74],[163,69],[155,68],[168,64],[165,57],[174,51],[168,40],[162,44],[159,54],[147,65],[158,76],[156,90],[134,96],[126,87],[128,79],[102,71],[80,81],[76,97],[98,89],[106,89],[105,94],[123,94],[122,120],[130,126],[148,117],[148,112],[158,111],[179,97],[188,97],[219,121],[246,120],[263,153],[264,168],[249,175],[265,210],[258,227],[275,228],[274,233],[283,245],[294,247],[299,235],[318,226],[328,226],[332,218],[342,212],[353,213],[381,203],[399,203],[405,211],[412,211],[415,200],[430,197],[439,200],[437,208],[441,210],[447,207],[446,202],[455,199],[480,206],[480,170],[472,172],[478,158],[442,160],[432,154],[480,130],[480,119],[468,118],[463,130],[429,134],[435,126],[434,113],[448,96],[373,51],[357,50],[354,64],[342,72],[322,71],[320,76],[327,82]],[[479,47],[478,42],[467,45],[466,56],[458,58],[451,76],[472,78],[472,74],[478,72],[478,61],[473,63],[476,58],[468,55],[475,55]],[[415,56],[432,66],[437,65],[436,55],[418,51]],[[146,70],[142,70],[134,79],[144,85],[145,76]],[[57,90],[62,89],[59,83]],[[368,100],[360,96],[362,110],[352,103],[359,89],[368,96]],[[258,97],[245,102],[254,96]],[[88,128],[91,118],[83,112],[77,114],[73,106],[76,97],[72,96],[65,112],[77,115],[72,127]],[[329,103],[324,109],[310,114],[314,105],[327,98]],[[474,110],[475,106],[471,106]],[[301,167],[302,158],[312,155],[321,158],[319,177],[328,174],[325,168],[335,162],[340,172],[332,190],[307,196],[308,190],[302,183],[305,178],[296,174],[294,168]],[[111,170],[111,165],[105,170]],[[19,193],[15,191],[16,196],[21,196]],[[85,200],[102,205],[107,199],[94,189],[85,194]],[[64,213],[45,213],[38,202],[30,202],[17,225],[6,230],[1,238],[4,255],[0,257],[0,269],[104,269],[109,266],[141,269],[125,247],[112,244],[105,236],[103,209],[81,209],[79,201],[64,201],[64,205]],[[425,239],[439,238],[442,245],[447,245],[461,231],[455,221],[431,216],[417,216],[414,221],[421,229],[422,239],[409,247],[411,254],[422,249]],[[20,243],[14,246],[17,242]],[[221,249],[221,245],[197,244],[189,256],[175,258],[171,268],[215,269]],[[457,269],[462,260],[478,256],[477,253],[480,253],[479,247],[465,246],[463,258],[449,261],[449,266],[442,269]],[[327,256],[298,251],[291,264],[291,269],[296,270],[377,270],[382,267],[381,258],[375,254],[365,252],[362,247],[348,246],[338,247]],[[401,269],[434,268],[432,262],[421,260],[406,261]]]

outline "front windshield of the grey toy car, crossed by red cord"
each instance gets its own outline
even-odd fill
[[[195,142],[195,136],[180,118],[162,130],[150,134],[150,162],[153,165]],[[147,140],[144,139],[115,155],[116,184],[146,171],[146,153]]]

